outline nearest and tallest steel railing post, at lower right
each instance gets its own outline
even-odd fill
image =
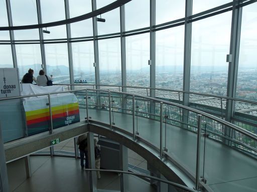
[[[198,124],[197,124],[197,151],[196,151],[196,173],[195,173],[195,190],[199,190],[199,180],[200,180],[200,153],[201,153],[201,119],[202,115],[197,114]]]

